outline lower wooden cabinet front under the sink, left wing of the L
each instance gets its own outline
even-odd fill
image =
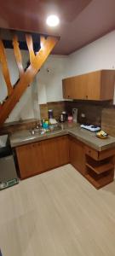
[[[69,162],[68,137],[55,137],[15,148],[20,178],[31,177]]]

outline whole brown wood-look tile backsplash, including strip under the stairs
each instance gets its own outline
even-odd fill
[[[48,119],[48,110],[53,109],[54,118],[59,120],[60,113],[72,115],[72,108],[78,108],[78,123],[89,123],[92,125],[102,125],[104,131],[115,136],[115,107],[112,102],[95,102],[95,101],[61,101],[48,102],[40,105],[41,119]],[[81,114],[85,114],[82,118]],[[36,127],[36,119],[23,120],[4,124],[0,129],[0,134],[14,132],[15,130],[31,129]]]

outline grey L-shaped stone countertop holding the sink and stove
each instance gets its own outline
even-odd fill
[[[91,148],[98,151],[115,147],[115,137],[108,136],[106,139],[100,139],[95,136],[95,132],[84,130],[79,124],[60,124],[58,131],[52,131],[43,135],[31,134],[31,131],[17,131],[10,136],[11,147],[15,148],[27,143],[35,143],[52,137],[59,137],[70,134],[72,137],[77,138],[79,141],[85,143]]]

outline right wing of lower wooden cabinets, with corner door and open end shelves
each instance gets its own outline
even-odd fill
[[[70,162],[96,189],[100,189],[114,178],[115,148],[101,152],[70,137]]]

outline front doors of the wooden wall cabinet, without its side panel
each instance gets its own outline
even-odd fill
[[[100,100],[100,71],[63,79],[62,84],[64,98],[79,100]]]

